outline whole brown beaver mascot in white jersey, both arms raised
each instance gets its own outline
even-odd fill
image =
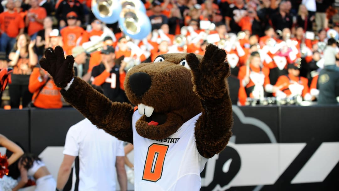
[[[233,125],[226,53],[163,54],[134,66],[124,88],[128,103],[111,102],[73,75],[73,56],[49,48],[40,65],[65,100],[98,128],[134,144],[136,190],[199,190],[208,158],[227,145]]]

